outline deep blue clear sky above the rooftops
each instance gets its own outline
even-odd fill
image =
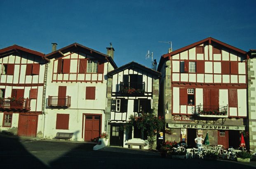
[[[256,0],[0,0],[0,49],[13,44],[51,52],[78,42],[106,53],[117,66],[157,62],[173,50],[207,37],[256,49]]]

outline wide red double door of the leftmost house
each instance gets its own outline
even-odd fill
[[[35,137],[37,126],[37,115],[19,115],[18,135]]]

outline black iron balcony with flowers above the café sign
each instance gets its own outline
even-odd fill
[[[198,117],[209,118],[227,118],[228,117],[228,105],[227,106],[211,106],[211,105],[197,105],[195,106],[195,115]]]

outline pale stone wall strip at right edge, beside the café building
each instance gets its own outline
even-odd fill
[[[248,60],[248,117],[249,144],[251,150],[256,150],[256,58]]]

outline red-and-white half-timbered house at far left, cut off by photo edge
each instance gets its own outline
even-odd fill
[[[43,137],[43,53],[13,45],[0,50],[0,131]]]

